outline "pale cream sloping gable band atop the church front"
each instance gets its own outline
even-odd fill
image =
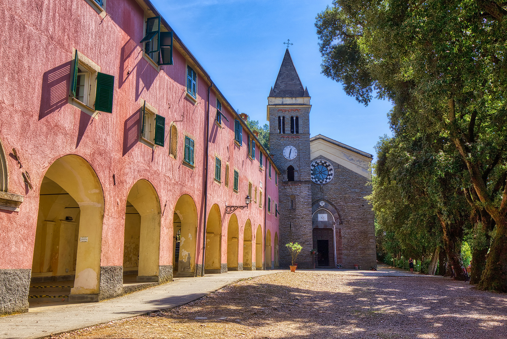
[[[373,155],[320,134],[310,139],[310,159],[319,157],[330,159],[367,179],[372,178]]]

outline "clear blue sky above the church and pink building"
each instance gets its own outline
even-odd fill
[[[289,50],[311,96],[311,136],[323,134],[374,154],[380,136],[390,135],[387,101],[368,107],[320,74],[315,17],[331,0],[152,0],[195,55],[234,109],[262,125],[267,96]]]

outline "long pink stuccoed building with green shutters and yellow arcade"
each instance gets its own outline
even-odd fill
[[[149,1],[2,12],[0,314],[278,265],[280,172]]]

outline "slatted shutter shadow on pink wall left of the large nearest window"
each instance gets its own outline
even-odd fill
[[[65,62],[43,74],[39,120],[68,103],[71,62]]]

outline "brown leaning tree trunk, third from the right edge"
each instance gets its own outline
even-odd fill
[[[449,259],[448,270],[454,268],[454,279],[464,281],[465,275],[461,261],[462,220],[447,222],[441,215],[438,215],[438,217],[442,224],[444,248]]]

